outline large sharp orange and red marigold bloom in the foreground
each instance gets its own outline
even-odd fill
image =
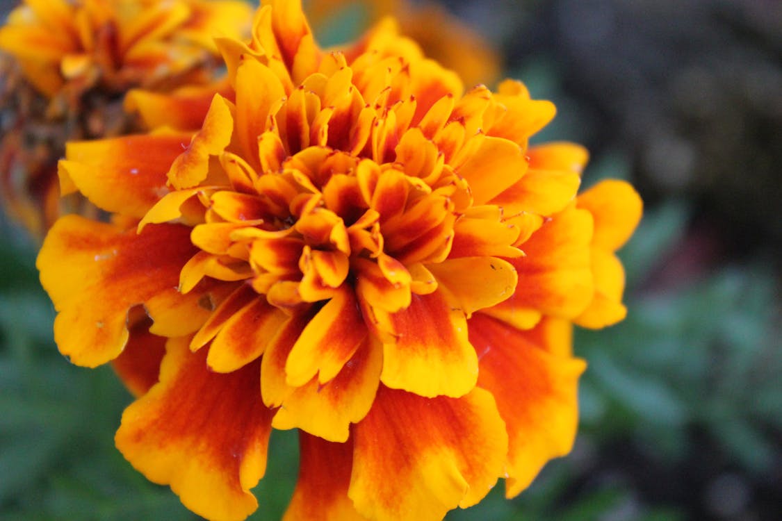
[[[624,316],[637,194],[576,197],[583,148],[528,145],[551,103],[465,91],[388,24],[324,52],[275,0],[217,46],[231,91],[198,131],[60,163],[113,213],[60,219],[38,267],[60,351],[140,395],[117,447],[210,519],[256,509],[272,428],[300,432],[286,519],[442,519],[500,477],[518,494],[575,436],[572,323]]]

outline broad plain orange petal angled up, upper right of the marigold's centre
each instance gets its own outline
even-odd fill
[[[481,144],[457,167],[470,184],[476,205],[482,205],[511,187],[527,170],[522,148],[500,137],[480,137]]]

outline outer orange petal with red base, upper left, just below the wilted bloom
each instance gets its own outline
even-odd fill
[[[166,174],[188,140],[160,134],[71,141],[59,176],[100,208],[141,218],[167,194]]]

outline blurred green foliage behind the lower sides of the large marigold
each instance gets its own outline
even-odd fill
[[[355,32],[361,16],[348,20],[325,28],[326,39]],[[594,106],[568,91],[555,57],[510,65],[510,76],[560,109],[543,139],[589,142]],[[598,149],[586,185],[601,177],[637,180],[636,152],[616,143]],[[622,250],[630,315],[576,335],[576,354],[589,369],[572,455],[551,462],[519,498],[504,500],[498,486],[448,519],[782,519],[774,250],[719,256],[682,274],[693,223],[711,214],[691,192],[653,199]],[[113,447],[129,394],[111,369],[81,369],[59,355],[35,245],[13,224],[0,226],[0,519],[194,519]],[[295,434],[275,431],[269,455],[255,520],[284,512],[296,480]]]

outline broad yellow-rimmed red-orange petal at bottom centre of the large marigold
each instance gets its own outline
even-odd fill
[[[474,505],[497,482],[508,451],[497,406],[482,389],[430,399],[381,386],[353,439],[348,495],[378,521],[434,521]]]

